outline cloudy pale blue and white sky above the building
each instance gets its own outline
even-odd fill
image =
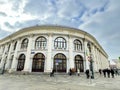
[[[93,35],[120,56],[120,0],[0,0],[0,39],[24,27],[57,24]]]

